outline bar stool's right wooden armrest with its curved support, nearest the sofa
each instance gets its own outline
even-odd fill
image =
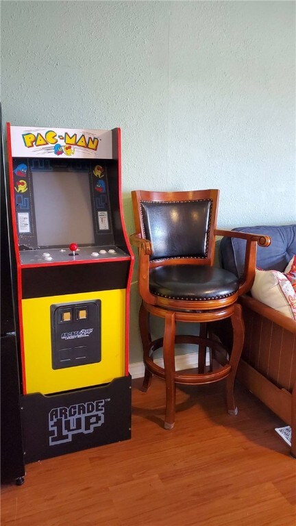
[[[219,229],[214,231],[214,235],[240,238],[246,241],[244,273],[242,279],[240,279],[238,295],[241,296],[245,294],[245,292],[249,292],[255,279],[257,245],[260,245],[260,247],[269,247],[271,238],[264,236],[264,234],[248,234],[247,232]]]

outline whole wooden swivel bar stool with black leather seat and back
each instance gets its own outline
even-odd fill
[[[132,192],[138,247],[138,290],[142,298],[139,323],[143,343],[145,378],[165,380],[165,429],[175,423],[176,384],[208,384],[226,379],[227,410],[237,414],[234,379],[243,349],[244,325],[238,297],[251,288],[255,277],[256,248],[268,246],[268,236],[216,229],[219,190],[192,192]],[[213,266],[215,236],[243,238],[247,242],[245,274],[241,282]],[[151,340],[149,315],[164,318],[164,336]],[[209,323],[231,318],[233,346],[230,355],[209,338]],[[200,323],[199,336],[175,334],[176,322]],[[199,345],[197,373],[175,371],[175,344]],[[156,349],[163,349],[164,367],[153,362]],[[206,366],[206,348],[210,366]]]

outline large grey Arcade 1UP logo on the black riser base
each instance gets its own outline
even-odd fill
[[[105,402],[77,403],[69,408],[55,408],[49,412],[49,445],[71,442],[74,435],[93,433],[105,421]]]

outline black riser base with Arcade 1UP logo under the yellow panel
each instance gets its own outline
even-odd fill
[[[21,396],[25,464],[131,438],[132,378]]]

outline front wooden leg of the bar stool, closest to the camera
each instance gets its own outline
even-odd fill
[[[175,424],[175,313],[165,316],[163,340],[164,375],[166,383],[166,414],[164,429],[173,429]]]

